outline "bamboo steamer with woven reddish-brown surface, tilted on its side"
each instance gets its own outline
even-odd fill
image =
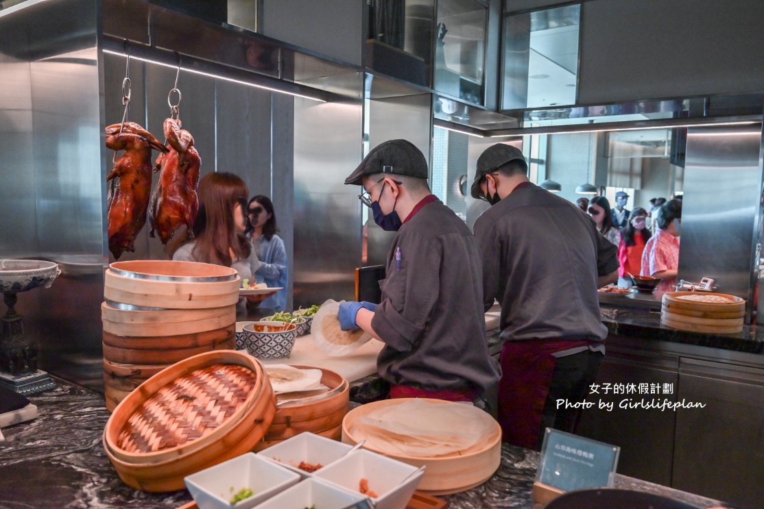
[[[104,449],[128,485],[174,491],[186,475],[253,449],[275,412],[256,359],[235,350],[202,353],[127,395],[106,423]]]

